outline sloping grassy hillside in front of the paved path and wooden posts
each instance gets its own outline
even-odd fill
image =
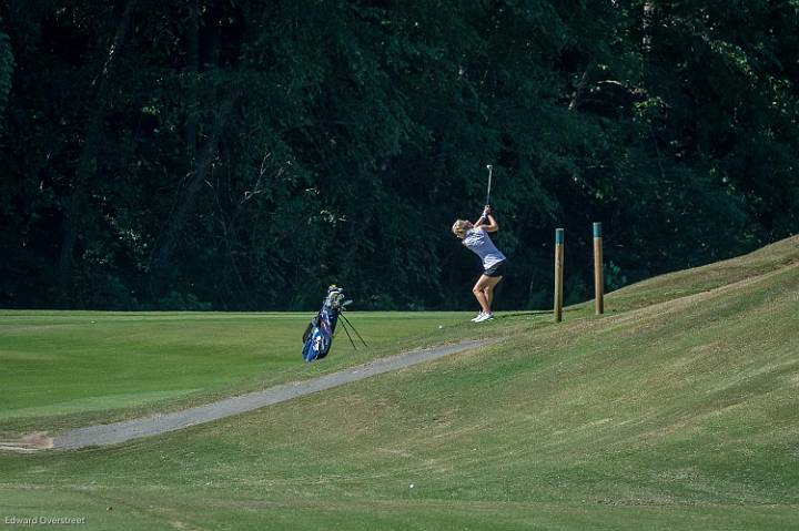
[[[625,288],[600,318],[436,325],[415,341],[504,340],[252,413],[3,453],[2,512],[131,530],[799,529],[797,262],[792,238]]]

